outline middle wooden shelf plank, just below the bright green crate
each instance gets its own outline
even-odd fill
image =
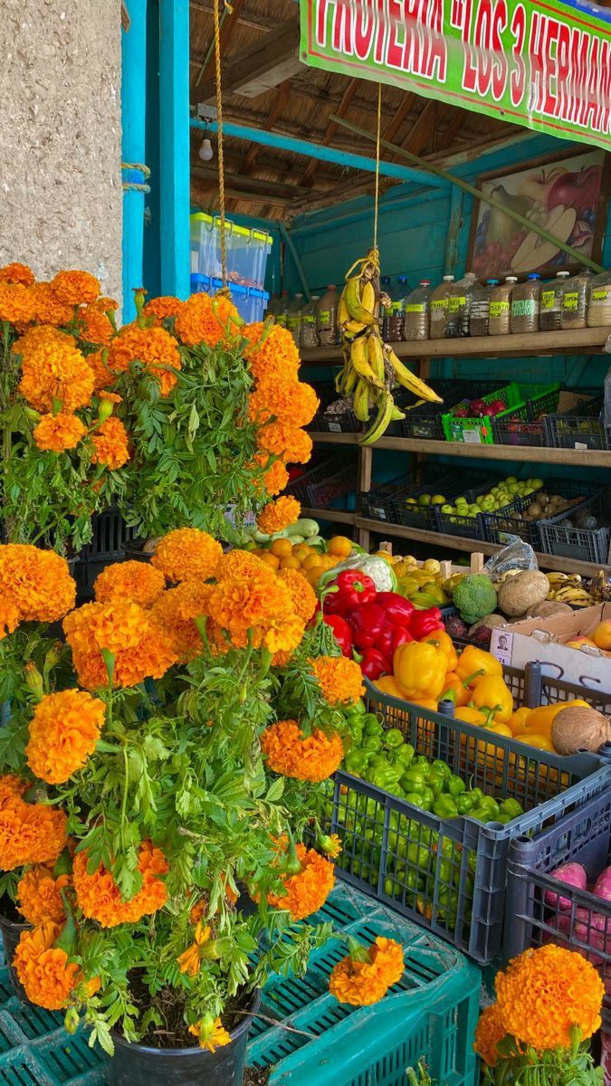
[[[356,433],[311,433],[312,441],[326,445],[356,445]],[[572,464],[584,468],[611,468],[611,452],[598,449],[546,449],[540,445],[478,445],[466,441],[428,441],[423,438],[381,438],[374,449],[406,453],[433,453],[482,460],[524,460],[536,464]]]

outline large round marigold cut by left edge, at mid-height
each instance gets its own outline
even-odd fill
[[[0,584],[21,622],[57,622],[74,607],[76,584],[65,558],[30,543],[0,545]]]

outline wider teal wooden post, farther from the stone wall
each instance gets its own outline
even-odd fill
[[[161,292],[188,298],[189,2],[160,0]]]

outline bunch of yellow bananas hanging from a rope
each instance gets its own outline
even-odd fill
[[[352,401],[360,422],[367,422],[371,408],[377,408],[372,426],[359,438],[361,445],[373,444],[390,422],[406,417],[392,399],[396,384],[420,396],[420,403],[425,400],[442,402],[428,384],[403,366],[392,348],[383,342],[378,320],[381,304],[389,305],[390,299],[379,289],[379,254],[377,249],[372,249],[348,272],[338,314],[344,368],[336,377],[337,392]]]

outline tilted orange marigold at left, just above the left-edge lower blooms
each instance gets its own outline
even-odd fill
[[[82,690],[46,694],[29,722],[27,765],[47,784],[63,784],[82,769],[104,723],[104,703]]]

